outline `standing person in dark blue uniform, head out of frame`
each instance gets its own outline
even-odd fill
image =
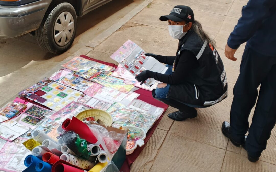
[[[235,146],[243,145],[251,162],[256,162],[266,149],[276,123],[275,21],[276,0],[249,0],[225,46],[225,56],[236,61],[237,48],[247,42],[240,75],[233,89],[230,124],[223,122],[222,133]],[[260,84],[259,98],[248,130],[248,117],[256,103]],[[249,134],[245,139],[247,131]]]

